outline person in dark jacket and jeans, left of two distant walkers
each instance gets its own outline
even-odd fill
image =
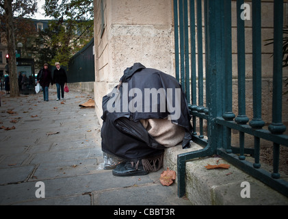
[[[43,90],[44,101],[49,101],[49,85],[53,85],[51,71],[48,69],[48,64],[44,64],[44,68],[42,68],[37,75],[37,83],[40,83]]]

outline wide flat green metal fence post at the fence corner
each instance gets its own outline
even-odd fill
[[[214,147],[222,147],[223,130],[215,123],[215,118],[224,114],[224,94],[222,79],[224,79],[224,51],[222,50],[222,15],[224,14],[222,0],[207,1],[207,107],[209,108],[209,143]]]

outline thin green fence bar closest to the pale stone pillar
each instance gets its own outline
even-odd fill
[[[175,49],[175,75],[179,81],[179,27],[178,27],[178,0],[173,1],[174,6],[174,49]]]

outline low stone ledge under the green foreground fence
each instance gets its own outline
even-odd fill
[[[202,147],[194,142],[190,149],[182,149],[181,145],[166,149],[163,168],[176,171],[177,155],[199,149]],[[288,205],[286,196],[235,166],[207,170],[207,164],[229,163],[221,157],[186,162],[186,196],[192,205]]]

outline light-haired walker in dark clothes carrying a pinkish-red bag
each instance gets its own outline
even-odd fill
[[[64,85],[67,83],[67,75],[64,68],[60,68],[60,63],[55,63],[56,69],[53,73],[53,82],[56,83],[57,87],[57,101],[60,100],[60,89],[61,89],[61,97],[64,99]]]

